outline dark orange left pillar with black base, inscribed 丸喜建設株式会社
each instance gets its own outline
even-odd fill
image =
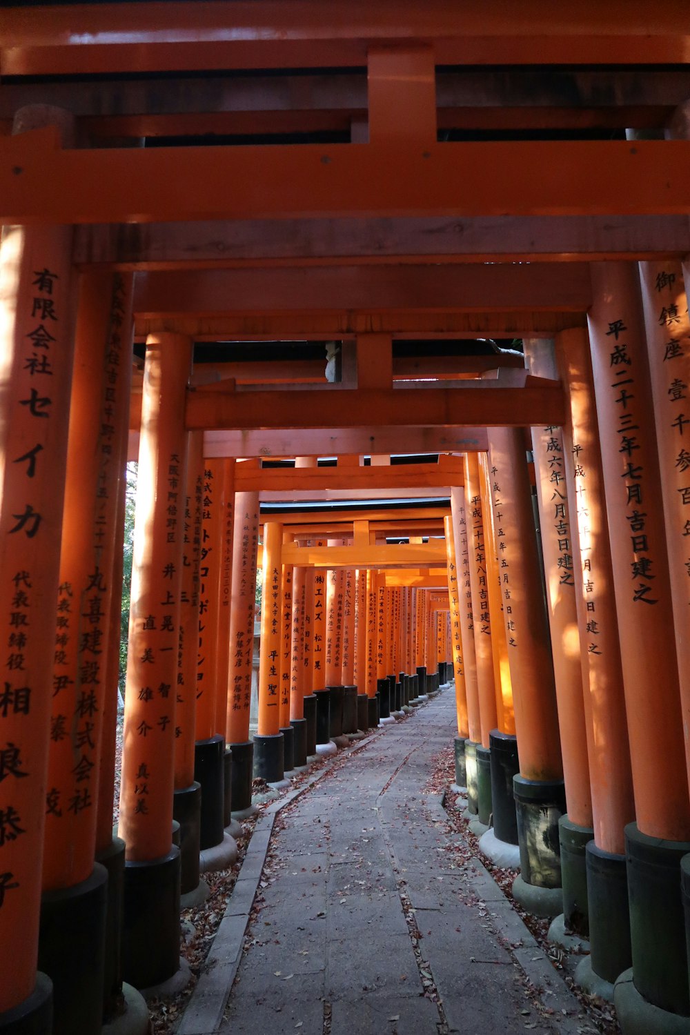
[[[107,686],[106,661],[130,346],[131,277],[83,276],[54,638],[39,941],[39,964],[55,983],[54,1025],[60,1032],[77,1025],[85,1033],[100,1032],[103,1012],[108,869],[94,866],[94,855],[102,715],[107,691],[117,694],[117,682]],[[110,819],[112,841],[112,811]],[[124,845],[112,851],[122,864]],[[90,945],[86,956],[76,949],[78,939]]]

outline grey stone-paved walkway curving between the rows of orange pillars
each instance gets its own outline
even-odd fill
[[[277,814],[222,1033],[594,1032],[481,863],[449,852],[424,789],[453,723],[445,691]]]

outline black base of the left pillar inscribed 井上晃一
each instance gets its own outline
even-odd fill
[[[180,850],[172,845],[159,859],[125,862],[122,977],[134,988],[148,988],[179,969]]]

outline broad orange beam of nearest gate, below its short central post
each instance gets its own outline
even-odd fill
[[[52,128],[0,138],[8,224],[689,212],[684,140],[64,150]]]

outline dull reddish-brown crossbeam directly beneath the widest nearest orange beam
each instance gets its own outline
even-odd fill
[[[79,227],[78,266],[122,270],[399,261],[650,259],[688,248],[685,215],[237,219]],[[314,257],[319,258],[316,259]]]

